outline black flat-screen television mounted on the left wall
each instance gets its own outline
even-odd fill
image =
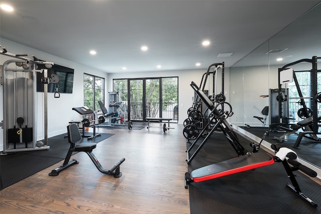
[[[38,65],[39,69],[46,69],[44,65]],[[53,65],[51,69],[48,69],[48,77],[51,74],[57,74],[59,76],[58,91],[59,93],[72,94],[73,82],[74,82],[74,69],[67,68],[61,65]],[[37,72],[37,92],[44,92],[44,84],[41,82],[41,78],[44,74]],[[48,92],[56,92],[56,84],[48,84]]]

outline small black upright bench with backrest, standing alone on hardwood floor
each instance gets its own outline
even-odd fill
[[[125,161],[125,158],[121,158],[120,161],[118,161],[110,169],[105,169],[99,163],[96,156],[92,153],[92,150],[96,148],[96,145],[97,145],[96,143],[88,143],[88,142],[78,143],[82,138],[76,123],[72,123],[68,125],[67,132],[68,132],[68,142],[70,143],[70,147],[66,155],[65,161],[61,166],[52,170],[49,173],[50,176],[57,176],[59,175],[59,172],[61,172],[62,170],[68,168],[73,164],[79,163],[77,160],[71,160],[71,161],[69,160],[73,152],[81,152],[81,151],[88,154],[88,156],[90,157],[90,159],[92,160],[92,162],[95,164],[95,166],[100,172],[108,175],[113,175],[114,177],[120,177],[122,175],[122,173],[119,171],[119,167],[120,167],[120,164]]]

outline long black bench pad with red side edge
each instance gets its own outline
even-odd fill
[[[191,177],[194,182],[201,182],[271,165],[273,163],[274,159],[270,154],[256,152],[195,169],[192,171]]]

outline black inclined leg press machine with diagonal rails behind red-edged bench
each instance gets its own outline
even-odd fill
[[[191,87],[198,94],[202,102],[208,107],[210,111],[210,113],[208,114],[209,116],[207,123],[208,127],[210,128],[210,131],[192,154],[190,154],[190,152],[192,152],[192,148],[196,145],[198,140],[201,139],[201,137],[207,131],[207,129],[204,128],[199,133],[195,141],[191,144],[191,146],[187,149],[187,163],[191,163],[191,161],[195,158],[197,153],[201,150],[201,148],[204,146],[204,144],[207,142],[207,140],[210,138],[213,132],[218,128],[220,128],[220,130],[224,133],[224,135],[226,136],[226,138],[228,139],[238,156],[243,156],[250,153],[241,145],[240,141],[237,138],[237,135],[233,131],[233,128],[226,120],[228,117],[233,115],[232,106],[228,102],[218,102],[216,103],[216,105],[214,105],[215,102],[213,103],[194,82],[191,83]],[[224,105],[228,106],[229,110],[224,111]],[[183,129],[183,134],[189,134],[189,129],[185,129],[185,132]],[[255,151],[255,149],[253,148],[253,152],[257,151]]]

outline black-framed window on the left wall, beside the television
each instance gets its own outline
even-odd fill
[[[98,110],[98,101],[105,101],[105,79],[84,74],[84,106]]]

